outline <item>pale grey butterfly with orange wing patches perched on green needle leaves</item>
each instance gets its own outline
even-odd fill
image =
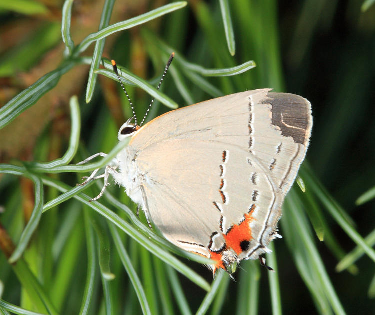
[[[281,205],[305,157],[312,127],[308,100],[270,90],[203,101],[144,126],[144,118],[138,125],[134,113],[118,131],[119,141],[131,137],[127,147],[104,175],[95,177],[95,170],[84,182],[104,177],[93,200],[103,194],[110,174],[166,239],[214,260],[213,272],[258,258],[280,237]],[[81,163],[98,155],[105,154]]]

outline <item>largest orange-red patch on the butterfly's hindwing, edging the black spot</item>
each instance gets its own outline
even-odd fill
[[[241,242],[250,241],[252,239],[250,228],[250,222],[252,219],[252,211],[246,213],[245,219],[240,224],[233,225],[230,231],[224,235],[226,246],[232,248],[237,255],[243,251],[241,248]]]

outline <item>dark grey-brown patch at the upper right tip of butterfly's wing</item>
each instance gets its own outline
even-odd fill
[[[288,93],[268,93],[262,104],[272,106],[272,124],[283,136],[291,136],[296,143],[306,145],[310,135],[311,106],[301,96]]]

